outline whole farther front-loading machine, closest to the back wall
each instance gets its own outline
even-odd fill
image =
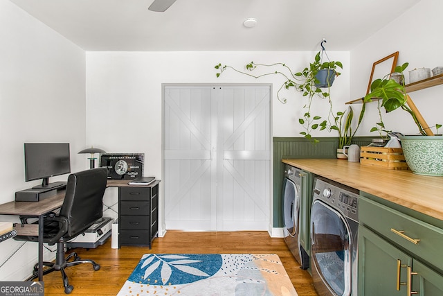
[[[300,198],[301,171],[298,168],[284,166],[282,211],[284,241],[298,263],[300,268],[309,268],[309,255],[300,245]]]

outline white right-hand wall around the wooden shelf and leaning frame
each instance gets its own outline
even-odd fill
[[[395,51],[399,51],[398,64],[409,62],[409,67],[406,69],[407,83],[408,71],[412,69],[422,67],[433,69],[443,66],[442,10],[443,1],[422,0],[377,34],[352,49],[351,96],[361,98],[366,94],[372,64]],[[443,123],[442,96],[442,85],[410,93],[410,97],[430,126]],[[378,120],[377,103],[368,104],[364,125],[359,130],[360,134],[377,137],[377,133],[369,131]],[[404,134],[418,133],[413,119],[402,110],[383,115],[383,120],[388,130]]]

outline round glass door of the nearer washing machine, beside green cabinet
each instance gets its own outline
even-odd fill
[[[315,278],[319,277],[335,295],[350,295],[351,240],[350,229],[342,214],[320,200],[314,200],[311,208],[311,265],[314,265],[314,285]]]

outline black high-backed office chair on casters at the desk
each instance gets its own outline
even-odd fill
[[[44,275],[54,270],[62,272],[64,293],[69,294],[73,286],[69,285],[64,268],[80,263],[92,263],[94,270],[100,265],[92,260],[81,260],[75,252],[65,258],[64,243],[82,234],[103,214],[103,194],[106,189],[107,168],[93,168],[68,177],[66,196],[59,214],[50,214],[44,218],[44,242],[48,245],[57,243],[57,254],[54,262],[44,262],[49,266]],[[37,241],[36,236],[16,236],[20,241]],[[73,261],[69,261],[74,257]],[[69,261],[69,262],[68,262]],[[38,277],[38,265],[28,280]]]

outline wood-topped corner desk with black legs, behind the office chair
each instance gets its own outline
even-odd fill
[[[159,180],[155,180],[149,185],[129,185],[129,180],[108,180],[107,187],[154,187],[159,184]],[[39,260],[39,281],[43,280],[43,218],[45,214],[55,211],[62,207],[64,201],[64,190],[58,191],[56,195],[51,198],[40,200],[39,202],[7,202],[0,204],[0,215],[15,215],[15,216],[35,216],[38,218],[38,225],[33,225],[34,230],[38,233],[38,260]],[[120,204],[120,198],[119,198]],[[31,225],[29,225],[31,226]],[[24,234],[21,232],[21,234]],[[26,235],[26,234],[24,234]],[[35,232],[28,233],[28,235],[35,235]]]

